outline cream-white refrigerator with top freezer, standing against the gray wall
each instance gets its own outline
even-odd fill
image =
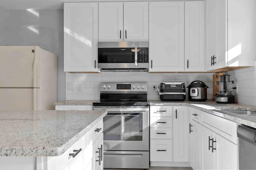
[[[56,100],[56,55],[38,46],[0,46],[0,110],[49,110]]]

